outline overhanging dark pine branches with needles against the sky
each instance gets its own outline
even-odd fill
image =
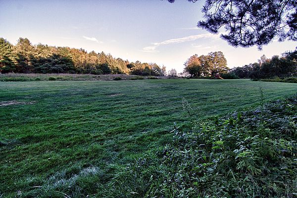
[[[274,39],[297,41],[296,0],[205,0],[202,13],[197,26],[214,34],[224,28],[221,38],[234,47],[262,49]]]

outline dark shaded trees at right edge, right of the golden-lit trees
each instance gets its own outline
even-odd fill
[[[297,50],[274,55],[268,59],[262,55],[258,62],[232,68],[230,73],[239,78],[270,79],[297,76]]]

